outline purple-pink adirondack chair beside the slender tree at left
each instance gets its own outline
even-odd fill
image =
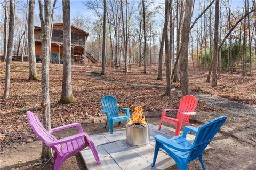
[[[73,123],[69,125],[60,126],[57,128],[51,129],[51,131],[46,131],[44,126],[41,124],[38,117],[30,111],[27,111],[27,118],[30,127],[33,129],[34,133],[42,140],[48,147],[51,147],[54,153],[54,170],[59,170],[63,162],[71,157],[76,155],[79,151],[83,150],[86,147],[89,147],[92,150],[94,158],[97,164],[100,164],[100,159],[95,149],[94,143],[87,135],[83,132],[83,129],[79,123]],[[65,137],[63,139],[57,140],[51,133],[60,131],[70,127],[77,127],[78,134]]]

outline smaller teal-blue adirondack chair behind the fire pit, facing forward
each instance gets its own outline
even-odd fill
[[[121,121],[129,120],[130,119],[130,112],[129,108],[118,108],[117,107],[117,100],[111,95],[104,96],[101,100],[101,105],[103,113],[107,115],[107,121],[105,128],[107,127],[107,123],[109,124],[110,132],[113,133],[113,124],[118,122],[118,126],[120,125]],[[118,110],[125,110],[126,115],[118,116]]]

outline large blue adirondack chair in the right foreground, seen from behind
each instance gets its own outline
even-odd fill
[[[156,147],[151,166],[155,165],[159,148],[162,148],[175,160],[179,170],[186,170],[187,164],[197,158],[200,160],[202,168],[205,169],[202,153],[226,119],[226,116],[220,116],[210,120],[199,128],[185,126],[183,135],[175,136],[171,139],[167,139],[162,135],[156,135]],[[186,135],[189,131],[196,133],[193,144],[186,140]]]

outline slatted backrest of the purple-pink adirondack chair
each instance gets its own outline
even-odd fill
[[[27,111],[27,118],[30,127],[33,129],[33,132],[44,143],[49,143],[57,140],[55,136],[46,131],[39,118],[35,114],[33,114],[33,112]],[[56,145],[52,147],[52,149],[54,149],[55,151],[60,151],[60,145]]]

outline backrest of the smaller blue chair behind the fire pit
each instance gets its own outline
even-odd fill
[[[109,111],[111,117],[118,116],[117,100],[111,95],[104,96],[101,100],[103,110]]]

